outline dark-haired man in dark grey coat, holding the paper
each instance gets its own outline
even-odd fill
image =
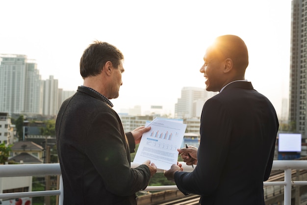
[[[135,193],[156,172],[150,160],[130,168],[130,152],[150,128],[125,134],[109,101],[119,96],[123,59],[108,43],[91,44],[80,60],[83,86],[59,110],[55,130],[64,205],[136,205]]]

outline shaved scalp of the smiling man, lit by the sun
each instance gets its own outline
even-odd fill
[[[248,66],[247,47],[244,41],[238,36],[219,36],[209,48],[219,52],[224,59],[231,58],[235,69],[245,71]]]

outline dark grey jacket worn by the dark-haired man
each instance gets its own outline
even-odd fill
[[[135,192],[146,188],[150,171],[146,165],[130,168],[133,136],[126,137],[102,96],[78,87],[62,104],[55,130],[64,205],[136,204]]]

